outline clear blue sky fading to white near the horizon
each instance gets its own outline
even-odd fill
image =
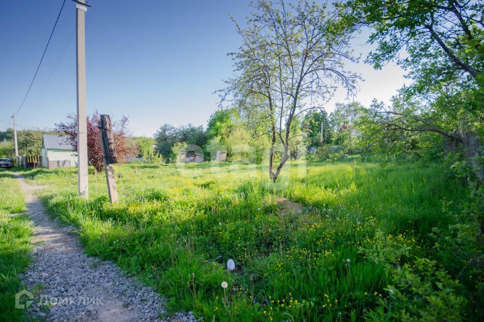
[[[63,0],[19,0],[0,11],[0,129],[27,92]],[[86,13],[87,112],[127,115],[134,135],[152,136],[164,123],[206,126],[217,109],[222,79],[232,75],[227,53],[240,39],[228,13],[244,22],[250,1],[90,0]],[[75,3],[67,0],[31,92],[17,115],[19,128],[52,128],[76,112]],[[368,32],[353,42],[364,56]],[[389,64],[346,68],[366,79],[354,99],[389,102],[406,81]],[[344,102],[338,91],[327,105]]]

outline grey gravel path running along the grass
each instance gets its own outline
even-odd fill
[[[73,227],[59,227],[35,194],[16,174],[27,201],[27,215],[34,223],[33,261],[21,278],[34,293],[28,307],[46,321],[162,321],[163,299],[137,279],[123,276],[110,262],[87,257]],[[28,295],[27,295],[28,296]],[[196,321],[192,312],[176,313],[165,321]]]

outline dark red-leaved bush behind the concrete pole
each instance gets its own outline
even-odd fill
[[[56,123],[55,130],[69,135],[69,141],[77,150],[77,116],[71,114],[66,122]],[[136,155],[136,147],[128,144],[128,117],[122,116],[119,121],[112,121],[114,136],[114,147],[116,149],[117,162],[125,163],[125,156]],[[94,166],[100,172],[104,168],[102,162],[101,138],[99,136],[99,112],[95,111],[87,117],[87,161],[90,166]]]

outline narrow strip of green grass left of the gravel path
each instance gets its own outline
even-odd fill
[[[22,290],[18,277],[29,263],[31,221],[11,217],[25,211],[25,199],[12,172],[0,170],[0,321],[27,320],[15,308],[15,294]]]

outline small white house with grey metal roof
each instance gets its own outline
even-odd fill
[[[68,135],[42,135],[42,167],[51,169],[76,165],[77,152],[69,142]]]

